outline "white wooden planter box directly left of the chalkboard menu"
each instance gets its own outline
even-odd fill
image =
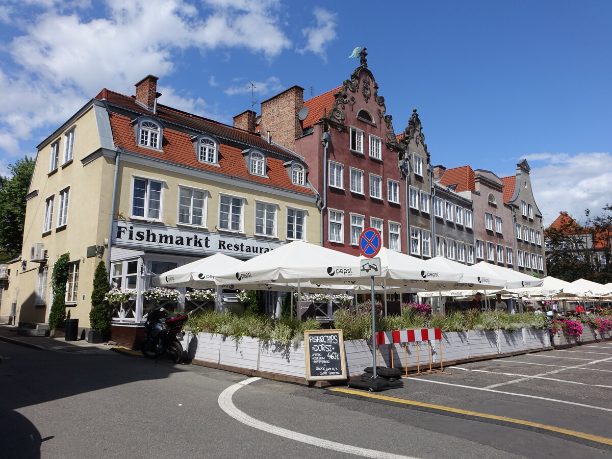
[[[277,341],[261,343],[258,370],[305,378],[305,359],[304,341],[297,348],[293,344],[284,346]]]

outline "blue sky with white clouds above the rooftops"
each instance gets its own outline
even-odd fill
[[[547,227],[612,203],[612,2],[2,0],[0,174],[102,88],[232,124],[291,86],[341,86],[367,47],[395,133],[417,108],[432,165],[514,175]]]

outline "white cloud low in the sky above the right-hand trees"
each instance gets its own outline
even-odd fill
[[[612,155],[592,152],[569,155],[539,153],[524,156],[531,166],[531,185],[535,202],[543,214],[546,228],[567,211],[578,221],[584,209],[594,215],[612,203]]]

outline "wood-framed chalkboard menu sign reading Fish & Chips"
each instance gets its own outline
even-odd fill
[[[304,330],[306,379],[346,379],[342,330]]]

